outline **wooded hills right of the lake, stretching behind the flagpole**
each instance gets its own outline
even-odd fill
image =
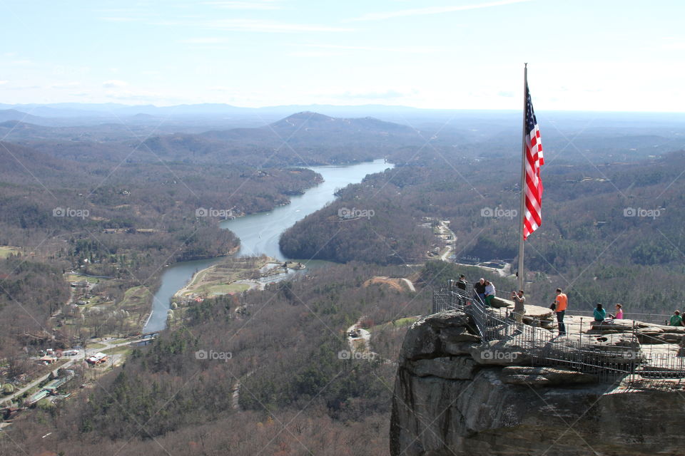
[[[642,162],[570,165],[550,150],[544,167],[544,224],[527,242],[532,299],[569,287],[578,309],[621,302],[670,313],[685,301],[685,152]],[[283,234],[289,254],[335,261],[410,263],[440,245],[423,217],[449,219],[456,257],[517,257],[517,165],[509,160],[402,166],[340,191],[340,199]],[[345,209],[372,217],[340,217]],[[494,216],[494,217],[493,217]]]

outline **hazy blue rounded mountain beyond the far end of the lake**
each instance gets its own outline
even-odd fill
[[[250,165],[327,165],[384,157],[422,144],[420,132],[376,118],[333,118],[303,111],[259,128],[148,138],[155,153],[177,160],[239,160]],[[285,145],[288,147],[285,147]]]

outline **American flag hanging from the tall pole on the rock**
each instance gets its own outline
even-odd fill
[[[542,180],[540,167],[544,165],[540,129],[530,100],[526,83],[526,214],[523,222],[523,239],[542,224]]]

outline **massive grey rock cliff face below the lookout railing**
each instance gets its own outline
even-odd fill
[[[393,456],[684,455],[682,391],[530,366],[529,352],[481,343],[470,318],[422,318],[400,353]],[[681,383],[674,381],[671,388]]]

